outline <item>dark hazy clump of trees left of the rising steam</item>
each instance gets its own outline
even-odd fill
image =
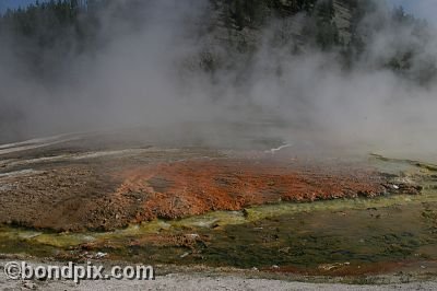
[[[96,46],[98,21],[92,2],[36,1],[8,10],[0,19],[0,42],[8,42],[33,75],[54,78],[69,57]]]

